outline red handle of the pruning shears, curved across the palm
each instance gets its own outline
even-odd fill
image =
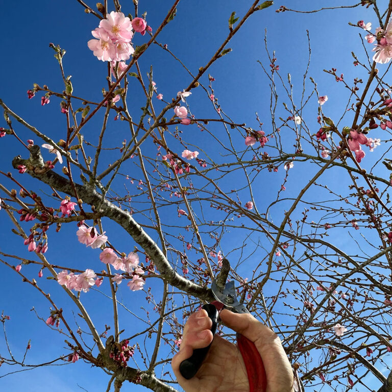
[[[237,344],[247,368],[249,392],[265,392],[267,378],[264,364],[254,342],[237,333]]]

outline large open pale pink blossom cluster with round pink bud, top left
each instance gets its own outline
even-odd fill
[[[122,12],[112,11],[106,19],[100,21],[99,27],[91,32],[95,39],[90,39],[87,45],[94,56],[102,61],[128,60],[135,52],[131,45],[133,31],[145,33],[150,27],[142,18],[131,19]]]

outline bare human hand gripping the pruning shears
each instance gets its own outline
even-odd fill
[[[265,368],[265,392],[292,392],[292,370],[279,337],[251,314],[224,309],[220,318],[227,327],[254,342]],[[179,384],[186,392],[248,392],[248,376],[241,353],[237,346],[218,335],[212,341],[211,326],[204,309],[189,316],[180,351],[171,361]],[[190,380],[183,378],[179,371],[180,363],[189,358],[194,349],[207,347],[211,341],[211,348],[198,373]]]

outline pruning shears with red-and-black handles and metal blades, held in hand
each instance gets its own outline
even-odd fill
[[[211,332],[215,335],[218,324],[219,311],[228,309],[234,313],[249,313],[249,310],[241,304],[236,297],[234,281],[226,282],[230,264],[227,259],[223,260],[222,272],[211,284],[212,295],[216,301],[203,305],[212,321]],[[211,342],[212,344],[212,342]],[[180,373],[187,380],[191,379],[200,369],[211,344],[203,349],[193,350],[190,358],[180,364]],[[237,333],[237,346],[245,363],[250,392],[265,392],[266,376],[263,361],[253,341]]]

